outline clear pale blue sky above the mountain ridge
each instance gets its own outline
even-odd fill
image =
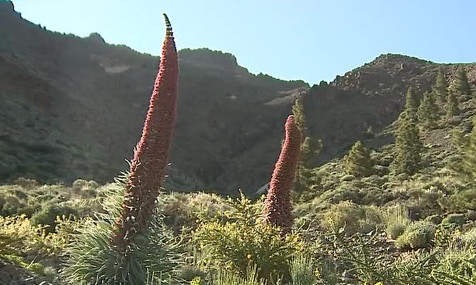
[[[53,31],[160,54],[162,12],[178,48],[233,53],[252,73],[332,81],[382,53],[476,61],[474,0],[14,0]]]

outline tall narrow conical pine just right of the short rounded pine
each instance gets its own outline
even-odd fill
[[[398,119],[398,128],[395,134],[395,160],[393,168],[397,173],[413,175],[422,165],[422,142],[417,127],[415,103],[412,101],[413,90],[407,92],[405,110]]]

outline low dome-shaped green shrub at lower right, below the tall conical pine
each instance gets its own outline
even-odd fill
[[[421,249],[428,247],[435,237],[435,224],[420,221],[410,224],[395,241],[398,249]]]

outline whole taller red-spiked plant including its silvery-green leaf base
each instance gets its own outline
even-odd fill
[[[160,283],[172,279],[183,262],[180,242],[154,214],[168,165],[178,89],[177,51],[165,19],[161,65],[131,169],[107,186],[103,212],[83,221],[71,237],[62,272],[69,284]]]

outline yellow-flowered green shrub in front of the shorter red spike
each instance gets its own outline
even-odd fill
[[[203,222],[193,232],[193,243],[202,252],[200,264],[206,268],[229,269],[245,276],[255,266],[258,276],[268,281],[279,276],[289,279],[289,261],[303,250],[296,234],[280,236],[280,230],[260,222],[261,205],[243,195],[228,199],[226,220]]]

